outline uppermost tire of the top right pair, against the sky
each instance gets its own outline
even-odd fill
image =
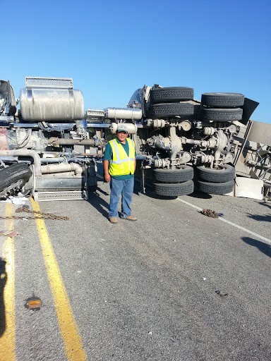
[[[244,95],[240,93],[204,93],[201,104],[214,108],[235,108],[243,106]]]

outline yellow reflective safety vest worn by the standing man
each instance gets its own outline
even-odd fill
[[[109,174],[111,176],[126,176],[135,173],[135,143],[130,138],[126,138],[129,145],[129,155],[124,150],[121,143],[116,139],[109,140],[113,151],[113,159],[109,161]]]

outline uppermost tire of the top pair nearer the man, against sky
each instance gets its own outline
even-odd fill
[[[191,87],[157,87],[150,90],[152,104],[193,100],[193,97],[194,90]]]

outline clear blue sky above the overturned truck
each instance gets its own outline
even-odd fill
[[[73,78],[85,109],[143,85],[240,92],[271,123],[271,1],[1,1],[1,79]]]

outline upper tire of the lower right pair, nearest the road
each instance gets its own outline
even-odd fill
[[[201,181],[223,183],[234,180],[235,169],[234,166],[223,164],[223,169],[210,169],[205,166],[197,166],[198,177]]]

